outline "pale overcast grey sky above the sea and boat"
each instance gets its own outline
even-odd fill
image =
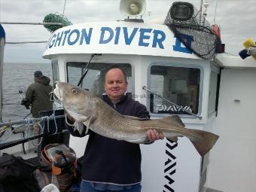
[[[143,15],[145,23],[161,23],[166,17],[173,0],[148,0]],[[184,2],[184,1],[179,1]],[[201,0],[190,0],[199,10]],[[225,52],[238,56],[244,49],[242,43],[251,38],[256,41],[256,0],[204,0],[208,2],[206,20],[221,27],[221,41]],[[0,0],[0,24],[41,23],[47,14],[62,14],[73,23],[123,20],[120,14],[120,0]],[[6,42],[47,41],[50,32],[44,26],[2,24]],[[4,62],[50,62],[43,59],[43,44],[5,44]]]

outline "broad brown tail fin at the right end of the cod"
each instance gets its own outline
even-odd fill
[[[203,157],[217,142],[218,136],[214,133],[209,133],[203,130],[190,130],[192,133],[197,134],[199,137],[190,139],[190,142],[197,149],[198,153]]]

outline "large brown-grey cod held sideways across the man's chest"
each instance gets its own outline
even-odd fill
[[[218,139],[213,133],[185,128],[178,115],[145,120],[119,114],[102,99],[72,84],[58,81],[54,95],[75,123],[83,123],[93,132],[111,139],[145,143],[147,130],[155,129],[173,142],[177,142],[178,137],[186,136],[201,156],[209,152]]]

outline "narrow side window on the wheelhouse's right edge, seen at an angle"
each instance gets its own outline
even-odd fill
[[[210,87],[209,87],[209,104],[208,115],[211,115],[217,111],[218,104],[218,72],[211,71]]]

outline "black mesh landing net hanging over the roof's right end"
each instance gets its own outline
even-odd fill
[[[197,11],[197,8],[190,3],[194,8],[191,12],[192,16],[187,20],[176,20],[172,16],[173,6],[169,9],[166,16],[164,24],[175,33],[175,36],[187,47],[187,49],[192,50],[197,56],[203,59],[212,59],[215,53],[218,52],[218,48],[221,46],[221,39],[212,30],[212,26],[206,21],[205,17],[202,15],[202,11]],[[187,41],[190,37],[192,41]]]

